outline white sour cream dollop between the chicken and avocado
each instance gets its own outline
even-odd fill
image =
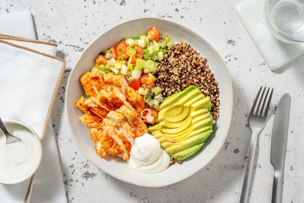
[[[155,137],[145,133],[135,139],[127,163],[134,170],[155,174],[169,166],[170,156],[161,148],[161,144]]]

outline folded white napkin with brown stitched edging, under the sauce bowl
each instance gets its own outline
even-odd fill
[[[0,34],[0,115],[31,126],[43,140],[65,60],[57,44]],[[29,203],[34,175],[20,184],[0,184],[1,203]]]

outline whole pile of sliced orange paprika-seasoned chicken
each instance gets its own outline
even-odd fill
[[[88,98],[81,97],[76,106],[85,113],[79,119],[88,126],[96,153],[129,159],[135,138],[147,133],[140,117],[143,98],[120,75],[87,72],[80,81]]]

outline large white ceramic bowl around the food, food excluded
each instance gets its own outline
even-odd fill
[[[207,58],[209,68],[219,82],[220,113],[219,119],[213,124],[212,134],[206,140],[204,149],[193,157],[183,161],[182,165],[172,165],[161,173],[143,174],[128,167],[121,158],[108,156],[100,158],[95,151],[94,142],[90,139],[88,128],[78,119],[83,112],[75,103],[84,95],[79,76],[90,71],[95,63],[95,57],[101,50],[115,46],[122,38],[135,37],[146,33],[156,26],[161,33],[167,33],[173,42],[187,41],[202,57]],[[71,71],[67,82],[65,108],[67,121],[72,137],[81,153],[96,167],[119,180],[146,187],[162,187],[181,181],[209,163],[219,152],[226,139],[232,113],[232,86],[228,70],[219,53],[201,36],[177,23],[159,18],[141,18],[115,26],[94,40],[82,53]]]

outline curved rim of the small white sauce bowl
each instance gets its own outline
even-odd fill
[[[16,184],[16,183],[21,183],[25,180],[27,180],[29,177],[31,177],[33,174],[36,173],[37,169],[39,168],[40,166],[40,163],[41,163],[41,160],[42,160],[42,143],[41,143],[41,140],[39,138],[39,136],[37,135],[37,133],[31,128],[29,127],[28,125],[22,123],[22,122],[19,122],[19,121],[14,121],[14,120],[7,120],[7,121],[3,121],[3,124],[5,126],[9,126],[9,125],[19,125],[19,126],[22,126],[22,127],[25,127],[26,129],[28,129],[29,131],[31,131],[34,136],[36,137],[37,141],[39,141],[38,143],[40,143],[40,152],[39,152],[39,156],[40,156],[40,160],[39,162],[37,163],[37,165],[30,171],[30,173],[26,174],[25,176],[23,177],[20,177],[20,178],[17,178],[17,179],[14,179],[14,180],[1,180],[0,178],[0,183],[1,184]]]

